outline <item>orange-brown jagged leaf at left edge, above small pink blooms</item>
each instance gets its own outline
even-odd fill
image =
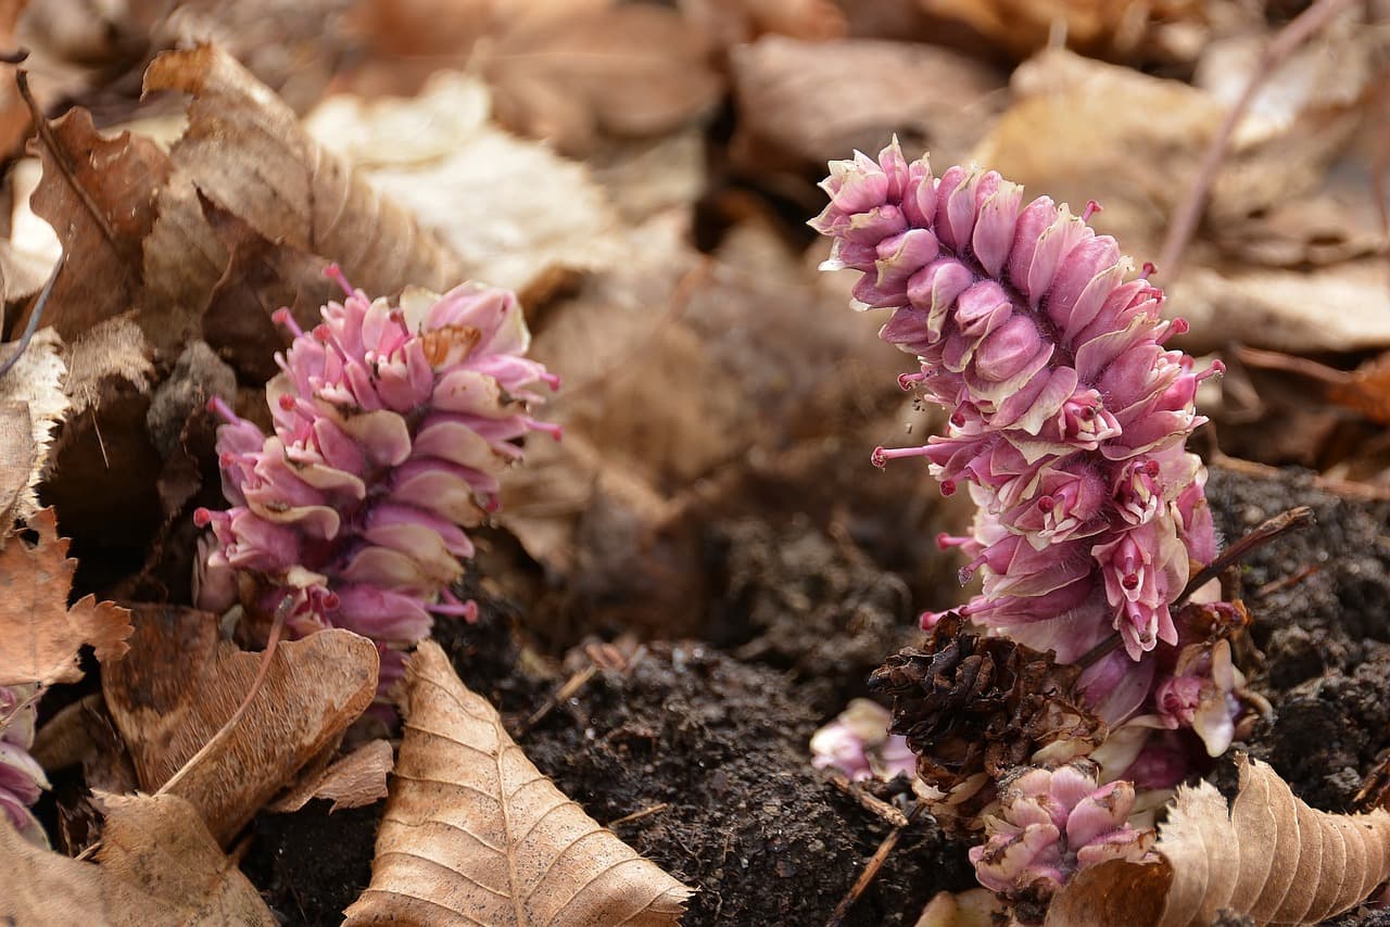
[[[78,649],[90,643],[101,663],[118,660],[131,637],[131,613],[88,595],[68,607],[78,561],[67,556],[53,509],[28,521],[38,542],[13,539],[0,550],[0,685],[76,682]],[[111,663],[114,666],[114,663]],[[110,668],[110,667],[107,667]]]

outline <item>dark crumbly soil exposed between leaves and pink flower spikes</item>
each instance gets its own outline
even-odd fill
[[[1241,570],[1254,616],[1244,666],[1273,716],[1237,749],[1270,762],[1311,805],[1347,810],[1390,748],[1390,503],[1337,498],[1297,474],[1222,470],[1208,493],[1227,538],[1297,504],[1316,513]],[[520,742],[595,819],[699,889],[684,923],[821,924],[890,826],[812,770],[806,742],[912,641],[903,580],[806,521],[731,521],[709,543],[720,591],[710,642],[646,645]],[[523,655],[521,625],[493,603],[478,625],[438,632],[513,730],[562,681]],[[884,796],[894,801],[891,785]],[[370,876],[378,816],[261,816],[245,867],[289,923],[338,923]],[[935,891],[972,884],[965,846],[929,819],[847,923],[912,924]]]

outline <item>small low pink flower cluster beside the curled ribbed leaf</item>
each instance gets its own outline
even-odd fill
[[[986,819],[987,839],[970,849],[980,884],[1005,898],[1042,902],[1073,873],[1111,859],[1154,859],[1154,831],[1136,830],[1129,782],[1097,785],[1084,760],[1023,769],[1002,784],[998,816]]]

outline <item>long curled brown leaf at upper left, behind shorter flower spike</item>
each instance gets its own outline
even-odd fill
[[[459,282],[457,260],[443,245],[320,147],[293,110],[221,49],[161,54],[145,74],[145,90],[193,95],[188,131],[170,157],[267,239],[336,260],[367,292]]]

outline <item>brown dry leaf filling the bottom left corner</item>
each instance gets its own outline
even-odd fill
[[[0,816],[0,920],[7,924],[263,924],[275,917],[175,795],[106,796],[100,864],[54,853]]]

